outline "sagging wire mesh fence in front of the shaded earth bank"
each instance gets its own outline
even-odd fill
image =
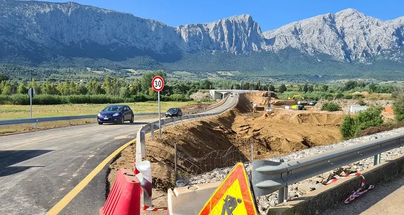
[[[235,146],[227,150],[212,151],[200,158],[191,158],[177,151],[176,185],[188,185],[197,175],[233,167],[238,162],[247,161],[248,159]]]

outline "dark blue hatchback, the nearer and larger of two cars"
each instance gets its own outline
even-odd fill
[[[98,113],[98,124],[103,123],[119,123],[124,121],[133,122],[133,111],[127,105],[110,105]]]

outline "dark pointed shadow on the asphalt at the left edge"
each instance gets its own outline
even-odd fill
[[[32,167],[38,167],[38,166],[19,166],[19,167],[18,166],[11,167],[11,166],[52,151],[53,150],[0,151],[0,177],[13,175]]]

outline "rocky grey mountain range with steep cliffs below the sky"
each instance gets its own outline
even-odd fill
[[[383,21],[355,9],[266,32],[249,15],[171,27],[73,2],[0,0],[0,19],[3,63],[23,59],[35,64],[59,57],[121,61],[137,56],[176,62],[184,54],[242,55],[285,49],[345,62],[372,63],[377,58],[404,62],[404,17]]]

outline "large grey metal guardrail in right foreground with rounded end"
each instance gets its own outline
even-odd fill
[[[257,196],[283,191],[293,183],[371,156],[374,156],[376,165],[380,163],[380,153],[403,145],[404,134],[396,134],[287,162],[257,160],[252,164],[252,188]]]

